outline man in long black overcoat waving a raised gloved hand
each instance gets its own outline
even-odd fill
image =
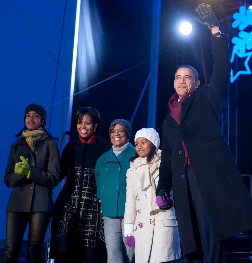
[[[252,199],[218,124],[231,69],[228,37],[209,4],[195,10],[195,20],[212,33],[213,75],[209,85],[199,87],[193,67],[182,65],[175,73],[176,93],[163,122],[156,203],[170,209],[173,187],[185,262],[224,263],[223,240],[252,229]]]

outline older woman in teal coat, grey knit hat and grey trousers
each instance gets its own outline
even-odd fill
[[[126,200],[126,172],[135,148],[129,143],[131,125],[116,119],[109,128],[112,148],[104,153],[95,166],[97,198],[102,205],[104,236],[108,263],[132,262],[134,248],[126,246],[123,235],[123,217]]]

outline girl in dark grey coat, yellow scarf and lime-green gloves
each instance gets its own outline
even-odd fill
[[[24,129],[10,148],[4,176],[13,187],[7,206],[6,246],[2,262],[15,262],[27,224],[28,262],[41,262],[46,229],[53,213],[52,191],[60,181],[57,141],[45,129],[46,108],[30,104]]]

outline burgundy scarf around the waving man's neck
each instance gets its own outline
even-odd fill
[[[195,92],[196,89],[194,89],[192,92]],[[182,99],[180,99],[180,101],[178,102],[179,99],[179,95],[177,93],[173,94],[169,100],[169,108],[171,110],[170,114],[171,117],[178,123],[180,124],[180,118],[181,118],[181,103],[186,100],[191,94],[192,92],[188,95],[186,95],[185,97],[183,97]],[[190,160],[188,157],[188,153],[187,150],[185,148],[185,144],[184,141],[182,141],[182,145],[185,151],[185,164],[184,167],[186,167],[186,165],[190,165]]]

